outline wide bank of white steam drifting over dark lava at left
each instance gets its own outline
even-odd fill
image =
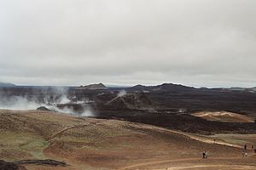
[[[67,92],[67,88],[54,87],[42,89],[39,97],[37,93],[19,96],[0,93],[0,109],[26,111],[44,107],[49,111],[75,116],[94,116],[94,111],[88,105],[88,99],[77,100],[74,97],[69,99]],[[80,105],[81,111],[75,111],[73,105]]]

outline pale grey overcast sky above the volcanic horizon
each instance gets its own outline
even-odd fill
[[[0,82],[256,86],[255,0],[1,0]]]

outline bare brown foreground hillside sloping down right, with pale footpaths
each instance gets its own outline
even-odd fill
[[[255,169],[253,152],[217,136],[140,123],[67,116],[47,111],[0,111],[0,159],[65,161],[67,167],[26,169]],[[235,135],[235,134],[234,134]],[[253,134],[252,134],[253,135]],[[213,138],[217,139],[213,143]],[[225,137],[227,138],[227,137]],[[248,139],[250,144],[255,136]],[[230,145],[230,146],[227,146]],[[210,153],[201,160],[201,152]]]

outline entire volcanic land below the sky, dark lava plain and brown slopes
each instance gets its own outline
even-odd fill
[[[0,170],[256,169],[253,89],[5,86]]]

